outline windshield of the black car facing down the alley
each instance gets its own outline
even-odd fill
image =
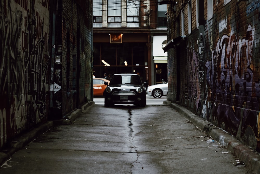
[[[142,85],[138,75],[114,75],[109,85]]]

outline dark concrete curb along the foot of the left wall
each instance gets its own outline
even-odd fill
[[[40,126],[31,129],[29,132],[24,133],[17,138],[14,138],[10,142],[10,147],[8,149],[3,149],[2,152],[0,152],[0,164],[5,162],[12,156],[12,154],[22,149],[35,138],[39,137],[40,135],[48,131],[54,125],[72,124],[71,121],[76,119],[82,113],[82,111],[86,110],[87,107],[93,104],[95,104],[94,101],[89,101],[86,104],[82,105],[81,109],[76,109],[75,111],[67,115],[64,119],[47,121],[46,123],[43,123]]]

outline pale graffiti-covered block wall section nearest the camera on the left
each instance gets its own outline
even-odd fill
[[[23,130],[47,119],[50,73],[49,1],[0,3],[1,148]]]

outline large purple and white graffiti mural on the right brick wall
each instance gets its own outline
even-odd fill
[[[260,81],[258,57],[253,57],[254,31],[248,24],[242,33],[222,35],[205,66],[210,89],[208,101],[214,102],[214,121],[234,136],[250,142],[253,148],[260,148]]]

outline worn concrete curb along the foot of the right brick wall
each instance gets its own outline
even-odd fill
[[[166,102],[167,103],[167,102]],[[171,103],[170,107],[178,111],[185,118],[189,119],[194,125],[204,130],[212,138],[218,141],[221,145],[226,146],[235,156],[245,163],[248,167],[256,173],[260,173],[260,154],[250,149],[238,139],[230,136],[228,133],[220,130],[218,127],[212,125],[210,122],[203,120],[198,115],[195,115],[185,107],[178,104]]]

